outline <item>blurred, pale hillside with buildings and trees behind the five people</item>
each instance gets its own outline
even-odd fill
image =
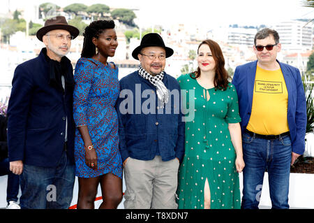
[[[26,26],[29,22],[40,24],[37,28],[39,29],[43,26],[45,18],[50,15],[64,15],[69,24],[73,24],[71,23],[73,20],[79,20],[80,25],[84,24],[84,26],[96,19],[113,19],[116,24],[119,46],[116,55],[110,59],[119,66],[119,78],[137,67],[138,61],[131,57],[131,52],[137,45],[140,45],[140,37],[147,31],[158,32],[163,37],[165,44],[174,49],[174,55],[167,59],[165,70],[177,77],[181,73],[193,71],[197,68],[195,60],[197,46],[200,41],[207,38],[212,38],[219,43],[225,57],[226,69],[232,74],[236,66],[256,59],[253,52],[253,40],[258,29],[264,27],[262,24],[259,27],[246,26],[246,24],[230,24],[229,26],[220,26],[214,29],[199,24],[193,26],[175,24],[167,28],[152,24],[151,27],[140,27],[137,25],[138,11],[136,9],[128,9],[135,16],[131,17],[133,23],[130,21],[127,23],[121,19],[121,16],[112,16],[112,12],[117,8],[110,8],[110,6],[107,6],[108,8],[104,13],[96,10],[88,12],[87,8],[90,8],[90,6],[86,6],[87,8],[84,8],[84,10],[76,9],[76,11],[73,9],[74,7],[65,10],[67,7],[54,6],[53,13],[47,8],[43,8],[43,4],[27,6],[27,8],[16,8],[15,11],[8,10],[7,13],[0,15],[0,21],[5,18],[13,20],[17,16],[19,20],[26,22]],[[18,12],[17,15],[16,11]],[[1,27],[3,27],[3,22]],[[300,71],[306,71],[308,57],[313,52],[313,22],[290,20],[278,22],[270,28],[276,29],[281,37],[283,50],[278,55],[278,59],[281,62],[297,66]],[[82,27],[81,29],[84,30]],[[29,34],[28,29],[21,30],[11,34],[7,42],[1,38],[0,66],[3,71],[0,76],[0,86],[10,86],[17,64],[36,57],[41,48],[44,47],[35,35]],[[130,31],[133,31],[134,34],[129,35]],[[3,36],[1,29],[0,36]],[[81,31],[80,36],[73,40],[68,54],[73,66],[80,58],[82,44],[83,36]]]

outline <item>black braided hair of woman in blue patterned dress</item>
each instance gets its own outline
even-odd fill
[[[114,29],[113,20],[97,20],[91,22],[84,30],[84,43],[81,57],[91,58],[96,55],[96,45],[91,41],[93,37],[98,38],[105,29]]]

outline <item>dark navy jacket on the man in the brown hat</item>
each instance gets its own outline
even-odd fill
[[[44,52],[43,52],[44,51]],[[10,161],[43,167],[57,166],[63,152],[68,117],[67,154],[74,164],[73,87],[65,94],[52,87],[46,49],[17,66],[8,104],[8,155]],[[68,73],[73,67],[68,61]]]

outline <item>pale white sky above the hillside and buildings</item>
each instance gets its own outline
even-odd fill
[[[271,25],[276,22],[297,18],[312,19],[314,8],[301,6],[304,0],[1,0],[0,13],[15,10],[21,6],[53,2],[65,7],[70,3],[104,3],[110,8],[137,9],[137,23],[140,27],[173,24],[189,24],[204,27],[220,27],[229,24]]]

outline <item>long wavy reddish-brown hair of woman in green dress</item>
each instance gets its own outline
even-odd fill
[[[211,49],[211,55],[213,55],[214,61],[216,63],[215,67],[215,78],[214,78],[214,85],[216,89],[227,89],[228,86],[228,79],[230,78],[228,72],[225,69],[225,59],[223,58],[223,52],[215,41],[212,41],[211,39],[207,39],[205,41],[202,41],[200,45],[198,45],[197,48],[197,54],[198,50],[200,49],[200,46],[206,44],[209,46],[209,49]],[[199,78],[200,77],[200,67],[197,67],[197,71],[194,71],[193,73],[190,73],[191,78]]]

